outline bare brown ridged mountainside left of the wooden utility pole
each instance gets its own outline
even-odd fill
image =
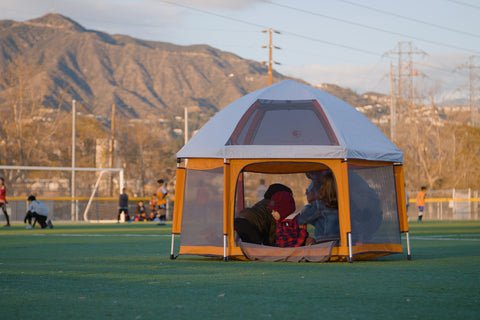
[[[12,65],[17,68],[9,70]],[[22,68],[23,67],[23,68]],[[217,109],[267,85],[267,68],[206,45],[177,46],[87,30],[59,14],[0,21],[0,100],[9,71],[28,81],[48,108],[124,117],[162,117],[185,106]],[[286,79],[278,73],[275,81]]]

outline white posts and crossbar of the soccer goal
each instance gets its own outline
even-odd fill
[[[69,200],[71,202],[71,220],[72,221],[79,221],[79,212],[78,212],[78,197],[76,197],[76,188],[75,185],[75,172],[95,172],[99,173],[97,177],[97,181],[91,191],[91,195],[88,198],[87,206],[83,212],[83,219],[85,222],[88,222],[88,211],[91,207],[92,201],[95,198],[95,194],[97,193],[98,187],[100,185],[100,181],[105,173],[116,173],[118,174],[118,190],[119,193],[122,192],[123,187],[125,186],[125,179],[124,179],[124,169],[123,168],[88,168],[88,167],[45,167],[45,166],[7,166],[7,165],[0,165],[0,170],[19,170],[19,171],[61,171],[61,172],[70,172],[72,174],[72,184],[71,184],[71,196]],[[7,186],[8,190],[8,186]],[[63,200],[68,199],[68,197],[62,197]],[[7,196],[8,200],[8,196]]]

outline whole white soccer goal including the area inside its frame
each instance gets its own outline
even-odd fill
[[[125,185],[123,168],[0,166],[0,176],[12,221],[23,221],[30,194],[47,205],[52,220],[113,221]]]

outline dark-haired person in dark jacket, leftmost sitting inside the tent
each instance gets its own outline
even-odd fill
[[[289,187],[274,183],[265,191],[262,200],[255,203],[251,208],[243,209],[237,215],[234,227],[243,242],[275,246],[276,221],[268,205],[272,196],[279,191],[292,194]]]

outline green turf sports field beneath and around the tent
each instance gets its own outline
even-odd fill
[[[480,318],[480,221],[410,223],[411,261],[170,260],[170,235],[151,223],[1,228],[0,319]]]

